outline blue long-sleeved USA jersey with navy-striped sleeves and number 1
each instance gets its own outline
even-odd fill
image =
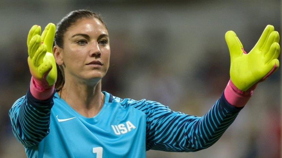
[[[146,151],[190,152],[214,144],[242,109],[224,93],[202,117],[159,102],[121,99],[107,92],[91,118],[77,113],[57,92],[47,100],[30,91],[9,111],[13,133],[27,157],[146,157]],[[183,105],[189,106],[189,105]]]

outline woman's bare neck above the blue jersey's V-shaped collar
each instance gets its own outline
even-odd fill
[[[85,117],[96,116],[105,100],[105,95],[101,92],[101,80],[96,85],[66,80],[58,94],[75,111]]]

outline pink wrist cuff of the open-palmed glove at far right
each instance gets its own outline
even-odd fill
[[[245,106],[252,95],[252,90],[246,92],[241,91],[232,83],[231,80],[229,80],[224,90],[224,96],[227,102],[236,107]]]

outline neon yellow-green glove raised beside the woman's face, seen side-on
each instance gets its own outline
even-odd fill
[[[28,66],[37,87],[42,90],[56,83],[57,66],[53,56],[55,24],[49,23],[42,35],[41,27],[31,27],[27,37]]]

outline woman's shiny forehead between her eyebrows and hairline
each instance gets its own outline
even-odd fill
[[[82,18],[69,27],[66,34],[72,36],[77,33],[89,35],[108,34],[105,25],[97,18]]]

